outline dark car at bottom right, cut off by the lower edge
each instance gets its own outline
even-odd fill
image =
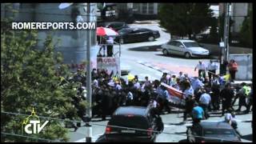
[[[241,138],[227,122],[200,122],[187,126],[188,142],[241,142]]]

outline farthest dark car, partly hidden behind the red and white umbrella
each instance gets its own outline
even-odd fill
[[[100,26],[112,28],[116,31],[121,30],[123,28],[129,28],[126,22],[101,22],[101,23],[98,23],[97,27],[100,27]]]

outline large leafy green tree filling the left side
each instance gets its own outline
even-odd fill
[[[11,19],[8,20],[9,22]],[[67,114],[78,118],[72,104],[80,83],[64,82],[72,74],[62,64],[62,55],[54,53],[53,39],[47,36],[44,46],[38,48],[38,35],[34,30],[11,30],[9,23],[1,26],[1,108],[2,111],[30,114],[34,106],[38,116],[63,118]],[[81,102],[85,104],[86,102]],[[26,116],[1,113],[1,132],[22,134],[22,121]],[[43,122],[46,119],[41,119]],[[29,136],[66,142],[67,130],[63,122],[51,120],[40,134]],[[2,136],[2,142],[37,142],[34,139]]]

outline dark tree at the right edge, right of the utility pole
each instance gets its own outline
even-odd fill
[[[253,10],[249,10],[248,17],[242,22],[240,42],[246,46],[253,46]]]

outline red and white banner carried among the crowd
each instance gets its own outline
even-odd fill
[[[172,86],[166,85],[166,83],[161,83],[162,86],[165,86],[169,93],[169,102],[174,103],[175,105],[185,106],[185,99],[183,98],[183,93],[180,90],[175,89]]]

